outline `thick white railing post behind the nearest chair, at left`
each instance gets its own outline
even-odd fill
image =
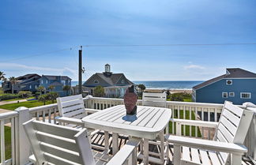
[[[29,156],[30,156],[30,144],[28,141],[28,137],[26,136],[26,133],[24,132],[24,128],[22,124],[24,122],[27,122],[31,119],[31,115],[29,114],[27,107],[18,107],[15,111],[19,113],[19,117],[17,120],[17,123],[15,123],[15,128],[18,130],[17,135],[15,138],[17,138],[17,145],[18,145],[18,163],[20,165],[26,164],[29,162]]]

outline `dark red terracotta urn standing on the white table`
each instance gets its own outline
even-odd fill
[[[126,107],[126,114],[137,114],[137,93],[135,92],[134,85],[126,89],[124,95],[124,104]]]

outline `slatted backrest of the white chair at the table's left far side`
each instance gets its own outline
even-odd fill
[[[58,112],[62,117],[78,118],[79,114],[85,114],[85,103],[82,95],[58,97]],[[85,117],[84,116],[84,117]]]

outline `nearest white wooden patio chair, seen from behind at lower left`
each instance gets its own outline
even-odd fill
[[[75,129],[34,119],[23,124],[34,155],[30,161],[38,165],[137,164],[138,140],[133,138],[113,157],[92,151],[86,129]],[[110,161],[109,163],[107,163]]]

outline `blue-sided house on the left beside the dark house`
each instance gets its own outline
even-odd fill
[[[71,78],[67,76],[50,76],[43,75],[40,78],[40,86],[43,86],[46,89],[46,92],[50,92],[49,86],[54,86],[55,88],[52,92],[58,92],[58,96],[68,96],[71,94],[71,91],[64,91],[63,87],[68,85],[71,87]]]

